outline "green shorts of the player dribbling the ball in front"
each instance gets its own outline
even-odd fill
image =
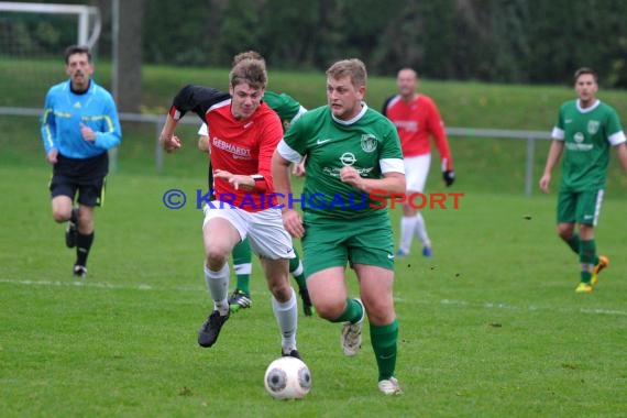
[[[392,223],[387,217],[306,222],[301,242],[306,276],[329,267],[345,267],[346,262],[394,270]]]

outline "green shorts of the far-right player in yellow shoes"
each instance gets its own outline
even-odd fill
[[[596,227],[603,189],[590,191],[566,191],[558,194],[558,223],[582,223]]]

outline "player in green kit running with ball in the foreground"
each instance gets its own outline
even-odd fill
[[[327,70],[328,105],[309,110],[292,124],[272,163],[283,205],[285,229],[302,239],[305,275],[318,315],[343,322],[342,346],[355,355],[364,317],[378,366],[378,388],[402,393],[394,376],[398,321],[394,310],[394,243],[382,196],[405,193],[405,169],[394,124],[363,101],[366,69],[359,59],[337,62]],[[307,157],[299,197],[305,222],[294,208],[289,164]],[[376,190],[376,191],[375,191]],[[378,208],[378,209],[377,209]],[[359,298],[348,296],[344,270],[355,271]]]

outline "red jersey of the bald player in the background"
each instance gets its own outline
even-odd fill
[[[396,127],[404,156],[429,154],[429,138],[432,136],[442,161],[442,172],[453,169],[444,122],[431,98],[418,95],[407,103],[399,95],[393,96],[384,105],[383,114]]]

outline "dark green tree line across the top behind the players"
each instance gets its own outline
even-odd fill
[[[99,7],[99,56],[110,56],[111,0],[36,2]],[[143,63],[228,67],[252,48],[272,68],[359,57],[373,75],[411,66],[427,78],[512,84],[570,85],[591,66],[604,87],[625,88],[626,18],[624,0],[120,0],[120,84],[141,86]],[[42,42],[58,54],[51,31],[75,28],[46,29]]]

